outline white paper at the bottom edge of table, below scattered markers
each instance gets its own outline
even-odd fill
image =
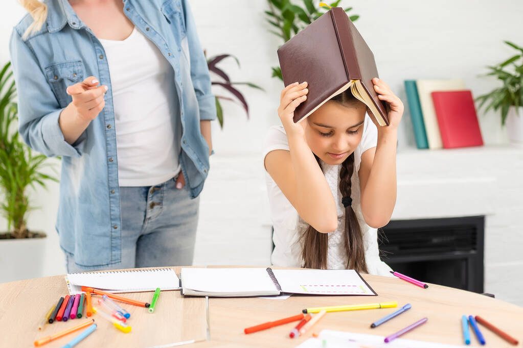
[[[467,345],[453,345],[426,341],[415,341],[397,338],[390,343],[385,343],[384,336],[365,333],[322,330],[317,338],[311,338],[296,346],[297,348],[458,348]],[[324,344],[325,343],[325,344]]]

